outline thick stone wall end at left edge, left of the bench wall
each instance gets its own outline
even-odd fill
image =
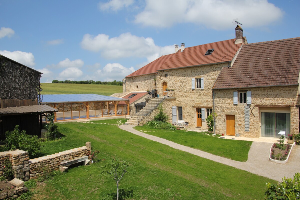
[[[16,151],[3,151],[0,152],[0,161],[9,158],[12,169],[13,177],[23,181],[29,180],[29,156],[27,151],[16,150]],[[2,163],[2,162],[1,162]],[[3,169],[0,163],[0,169]],[[3,172],[0,172],[3,175]]]

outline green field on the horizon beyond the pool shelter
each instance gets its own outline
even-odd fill
[[[72,83],[41,83],[41,94],[101,94],[110,96],[121,93],[120,85],[72,84]]]

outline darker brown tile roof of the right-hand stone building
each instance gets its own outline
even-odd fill
[[[300,37],[246,44],[213,89],[297,85],[299,70]]]

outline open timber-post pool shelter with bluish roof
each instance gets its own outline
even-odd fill
[[[58,112],[55,121],[129,115],[129,100],[99,94],[44,94],[41,103]]]

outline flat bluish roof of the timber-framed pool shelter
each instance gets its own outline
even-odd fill
[[[43,94],[42,104],[47,103],[75,103],[75,102],[95,102],[95,101],[128,101],[118,97],[110,97],[99,94]]]

